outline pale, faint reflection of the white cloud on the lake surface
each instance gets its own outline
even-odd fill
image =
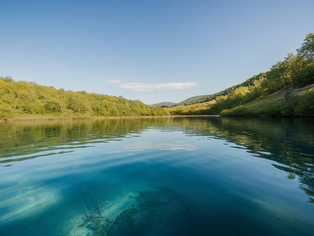
[[[145,143],[145,142],[134,142],[125,144],[122,146],[123,149],[115,152],[123,151],[143,151],[148,149],[156,150],[185,150],[185,151],[195,151],[197,148],[195,145],[184,143],[184,142],[174,142],[174,143]]]

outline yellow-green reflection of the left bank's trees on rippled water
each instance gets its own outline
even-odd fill
[[[41,152],[41,148],[53,149],[58,145],[76,146],[87,140],[122,138],[130,132],[140,133],[149,126],[149,121],[105,119],[1,123],[0,153],[1,157],[10,157]]]

